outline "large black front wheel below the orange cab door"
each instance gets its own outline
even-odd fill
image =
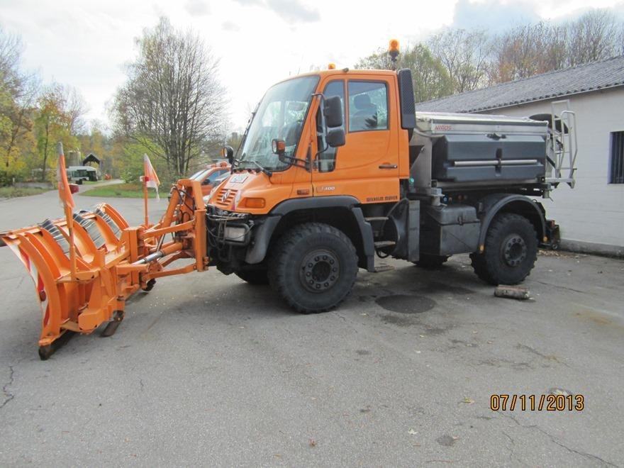
[[[357,276],[357,253],[345,233],[323,223],[287,231],[269,262],[269,282],[296,311],[317,313],[338,306]]]

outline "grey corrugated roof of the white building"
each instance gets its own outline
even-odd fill
[[[624,55],[416,104],[416,111],[479,112],[624,86]]]

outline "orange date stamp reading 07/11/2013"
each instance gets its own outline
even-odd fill
[[[492,411],[583,411],[585,397],[581,394],[494,394],[490,396],[490,409]]]

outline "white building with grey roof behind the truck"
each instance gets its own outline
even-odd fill
[[[416,105],[416,111],[533,116],[569,99],[576,113],[576,186],[545,200],[562,247],[624,255],[624,56]]]

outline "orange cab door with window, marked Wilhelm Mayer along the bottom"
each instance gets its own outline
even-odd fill
[[[325,97],[342,101],[345,145],[327,147],[316,108],[315,196],[350,195],[363,204],[399,199],[399,135],[390,79],[349,74],[323,83]]]

